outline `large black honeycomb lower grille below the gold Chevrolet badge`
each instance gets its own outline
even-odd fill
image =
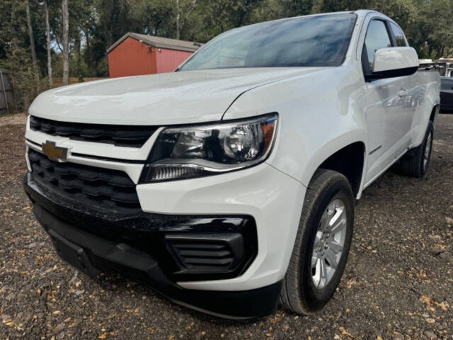
[[[33,178],[62,198],[110,211],[140,209],[135,184],[123,171],[60,163],[30,149]]]

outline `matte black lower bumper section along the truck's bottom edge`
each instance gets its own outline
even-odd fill
[[[24,186],[34,203],[35,216],[50,235],[59,256],[88,276],[96,276],[101,271],[122,273],[149,284],[173,302],[219,317],[247,319],[275,311],[281,282],[243,291],[181,288],[148,252],[76,227],[50,211],[58,208],[58,204],[44,193],[38,193],[30,176],[25,176]]]

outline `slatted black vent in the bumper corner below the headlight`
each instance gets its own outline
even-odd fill
[[[166,234],[166,243],[183,273],[229,273],[244,257],[241,234]]]

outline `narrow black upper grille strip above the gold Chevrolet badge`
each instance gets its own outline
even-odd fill
[[[30,129],[71,140],[113,144],[118,147],[142,147],[157,127],[59,122],[30,116]]]

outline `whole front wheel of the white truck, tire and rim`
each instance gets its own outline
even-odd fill
[[[352,239],[354,200],[348,179],[319,169],[306,191],[280,302],[300,314],[321,310],[343,275]]]

